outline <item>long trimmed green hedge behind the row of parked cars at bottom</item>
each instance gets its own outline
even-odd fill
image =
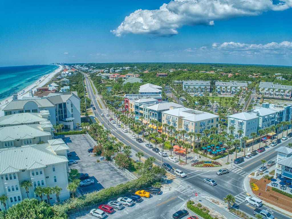
[[[136,190],[146,187],[154,183],[153,178],[140,177],[136,180],[131,180],[126,183],[119,184],[117,186],[102,189],[91,193],[84,194],[77,198],[71,198],[64,201],[62,204],[55,204],[52,206],[53,210],[58,213],[59,216],[65,217],[71,210],[78,210],[85,206],[102,203],[109,201],[110,199],[123,196],[128,193],[135,192]]]

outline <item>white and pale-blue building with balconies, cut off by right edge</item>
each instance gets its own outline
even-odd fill
[[[277,151],[277,159],[274,178],[284,177],[292,180],[292,149],[283,146],[275,151]]]

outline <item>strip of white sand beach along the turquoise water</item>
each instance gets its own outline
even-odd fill
[[[50,79],[52,79],[58,72],[60,72],[62,70],[62,68],[63,68],[62,65],[58,65],[58,66],[59,67],[56,70],[54,70],[53,72],[40,77],[39,79],[34,81],[32,84],[30,84],[29,86],[24,88],[23,90],[25,90],[25,93],[18,95],[17,98],[21,99],[24,96],[28,96],[29,90],[36,91],[36,88],[44,86]],[[17,93],[21,93],[21,91],[17,91]],[[6,107],[6,105],[8,103],[10,103],[12,101],[12,98],[13,98],[13,95],[0,101],[0,116],[4,116],[4,112],[2,110],[4,109],[4,107]]]

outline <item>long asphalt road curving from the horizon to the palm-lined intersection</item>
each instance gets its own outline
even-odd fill
[[[93,95],[90,83],[88,81],[88,78],[85,78],[87,89],[88,89],[88,97],[92,100],[92,103],[96,107],[96,117],[100,121],[100,123],[104,124],[104,126],[107,128],[109,127],[109,130],[111,130],[111,133],[116,136],[118,140],[123,142],[125,145],[131,146],[134,153],[138,151],[142,151],[144,153],[144,157],[154,157],[156,159],[155,164],[160,166],[161,156],[159,156],[157,153],[153,152],[152,150],[145,147],[145,143],[138,143],[135,140],[131,139],[129,133],[123,133],[121,131],[121,128],[117,128],[115,125],[111,122],[108,123],[108,118],[105,116],[100,116],[101,113],[107,113],[106,109],[100,109],[95,96]],[[100,100],[101,101],[101,100]],[[292,138],[289,140],[286,140],[285,145],[288,144],[288,142],[292,141]],[[283,142],[284,143],[284,142]],[[277,145],[275,148],[283,146],[283,143]],[[243,162],[237,166],[233,166],[230,168],[230,173],[227,173],[225,175],[218,176],[216,175],[216,171],[208,171],[208,170],[193,170],[184,168],[182,166],[179,166],[178,164],[175,164],[171,161],[169,161],[166,158],[163,158],[163,162],[167,162],[171,164],[173,169],[180,169],[183,170],[186,174],[186,178],[179,178],[178,180],[181,180],[183,184],[186,185],[186,187],[190,187],[194,190],[194,192],[197,192],[200,196],[207,196],[207,197],[213,197],[214,199],[218,199],[220,201],[223,201],[223,198],[226,197],[227,194],[232,194],[235,196],[237,200],[237,204],[242,203],[244,201],[244,198],[247,196],[246,192],[244,190],[244,178],[246,175],[251,173],[253,170],[259,168],[262,165],[262,162],[260,160],[266,159],[269,161],[270,159],[274,159],[276,157],[276,154],[274,150],[270,150],[267,152],[264,152],[262,154],[258,154],[258,159],[250,162]],[[210,186],[207,183],[203,182],[204,178],[212,178],[217,182],[218,185],[216,186]],[[252,208],[247,207],[245,205],[246,203],[240,204],[239,207],[242,211],[253,215]],[[249,206],[249,205],[248,205]],[[276,212],[274,212],[276,215]],[[286,217],[285,215],[281,215],[278,213],[279,216],[277,216],[277,219],[289,219],[289,217]]]

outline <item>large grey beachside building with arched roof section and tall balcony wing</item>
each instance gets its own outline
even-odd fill
[[[63,124],[64,129],[73,130],[77,123],[81,123],[80,99],[77,92],[49,93],[44,97],[23,97],[17,99],[17,93],[13,94],[13,100],[4,107],[5,115],[16,113],[49,112],[49,120],[53,125]],[[46,111],[46,112],[47,112]]]

